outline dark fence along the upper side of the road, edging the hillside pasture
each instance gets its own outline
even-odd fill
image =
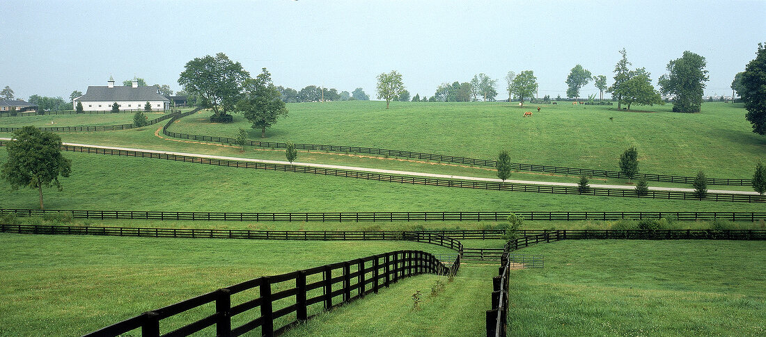
[[[178,118],[181,118],[181,117],[182,116],[179,116]],[[237,144],[237,140],[234,138],[206,136],[206,135],[199,135],[199,134],[185,134],[180,132],[169,131],[168,128],[170,125],[171,123],[168,123],[167,125],[165,125],[165,128],[162,129],[162,133],[168,137],[191,139],[194,141],[211,141],[211,142],[222,143],[222,144]],[[286,143],[273,142],[273,141],[247,141],[246,145],[254,146],[254,147],[270,147],[275,149],[286,148],[287,146]],[[390,156],[390,157],[414,158],[414,159],[420,159],[420,160],[434,160],[434,161],[453,163],[453,164],[466,164],[466,165],[477,166],[477,167],[496,167],[497,165],[496,160],[455,157],[455,156],[446,156],[442,154],[425,154],[421,152],[390,150],[390,149],[381,149],[381,148],[375,148],[375,147],[358,147],[358,146],[342,146],[342,145],[326,145],[326,144],[295,144],[295,147],[300,150],[309,150],[309,151],[347,152],[347,153],[355,153],[355,154],[377,154],[377,155]],[[521,163],[512,163],[511,169],[517,170],[517,171],[561,173],[561,174],[571,174],[571,175],[577,175],[577,176],[585,175],[585,176],[591,176],[591,177],[626,178],[627,179],[627,176],[624,173],[619,171],[611,171],[611,170],[593,170],[593,169],[582,169],[582,168],[575,168],[575,167],[557,167],[557,166],[521,164]],[[638,173],[633,178],[646,179],[651,181],[662,181],[667,183],[693,183],[695,180],[695,177],[671,176],[671,175],[650,174],[650,173]],[[708,183],[710,185],[749,186],[752,184],[752,180],[708,178]]]

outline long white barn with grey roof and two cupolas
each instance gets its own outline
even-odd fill
[[[152,105],[152,111],[170,109],[170,99],[159,94],[157,86],[139,86],[133,79],[133,86],[115,86],[110,76],[107,86],[88,86],[85,95],[72,101],[72,109],[77,109],[77,102],[83,103],[84,111],[107,111],[114,102],[120,111],[143,110],[146,102]]]

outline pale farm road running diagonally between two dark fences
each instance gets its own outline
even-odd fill
[[[0,139],[2,139],[2,140],[10,140],[10,138],[0,138]],[[224,156],[214,156],[214,155],[211,155],[211,154],[189,154],[189,153],[184,153],[184,152],[156,151],[156,150],[147,150],[147,149],[141,149],[141,148],[113,147],[113,146],[91,145],[91,144],[75,144],[75,143],[64,143],[64,144],[74,145],[74,146],[85,146],[85,147],[100,147],[100,148],[105,148],[105,149],[123,150],[123,151],[144,151],[144,152],[152,152],[152,153],[156,153],[156,154],[175,154],[175,155],[181,155],[181,156],[205,157],[205,158],[212,158],[212,159],[250,161],[250,162],[254,162],[254,163],[290,164],[287,161],[280,161],[280,160],[252,159],[252,158],[242,158],[242,157],[224,157]],[[496,179],[496,178],[463,177],[463,176],[452,176],[452,175],[449,175],[449,174],[422,173],[422,172],[410,172],[410,171],[400,171],[400,170],[381,170],[381,169],[368,168],[368,167],[352,167],[352,166],[342,166],[342,165],[313,164],[313,163],[300,163],[300,162],[293,162],[293,165],[305,166],[305,167],[332,168],[332,169],[338,169],[338,170],[353,170],[353,171],[359,171],[359,172],[388,173],[388,174],[397,174],[397,175],[402,175],[402,176],[414,176],[414,177],[432,177],[432,178],[457,179],[457,180],[473,180],[473,181],[491,181],[491,182],[496,182],[496,183],[501,182],[501,180]],[[545,186],[578,186],[577,183],[557,183],[557,182],[535,181],[535,180],[506,180],[506,183],[523,183],[523,184],[528,184],[528,185],[545,185]],[[591,187],[594,187],[594,188],[604,188],[604,189],[620,189],[620,190],[633,190],[635,188],[633,186],[625,186],[625,185],[601,185],[601,184],[591,184]],[[693,189],[682,188],[682,187],[657,187],[657,186],[650,186],[649,190],[675,191],[675,192],[694,192]],[[733,190],[708,190],[708,193],[740,194],[740,195],[752,195],[752,196],[757,196],[758,195],[758,193],[756,193],[755,191],[733,191]]]

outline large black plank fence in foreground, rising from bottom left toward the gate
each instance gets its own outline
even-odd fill
[[[459,255],[447,267],[424,251],[393,251],[248,280],[142,313],[86,336],[118,336],[136,329],[140,329],[145,337],[186,336],[201,331],[210,335],[238,336],[256,329],[260,329],[260,335],[279,335],[322,310],[378,293],[401,278],[418,274],[457,274],[459,268]],[[174,316],[188,319],[188,312],[201,307],[208,309],[197,315],[204,316],[201,319],[170,332],[160,331],[161,323],[165,325],[163,319]]]

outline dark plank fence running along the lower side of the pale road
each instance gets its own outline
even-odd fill
[[[176,117],[178,115],[175,115]],[[172,120],[171,120],[172,121]],[[8,141],[0,141],[0,146],[4,146]],[[725,194],[725,193],[707,193],[702,198],[698,198],[692,192],[679,192],[679,191],[658,191],[650,190],[647,195],[640,196],[635,190],[621,190],[621,189],[603,189],[603,188],[590,188],[588,191],[581,193],[576,186],[549,186],[549,185],[532,185],[523,183],[501,183],[491,181],[473,181],[473,180],[450,180],[430,177],[411,177],[411,176],[398,176],[387,173],[374,173],[374,172],[362,172],[355,170],[341,170],[326,167],[309,167],[292,164],[272,164],[272,163],[260,163],[245,160],[231,160],[231,159],[218,159],[210,157],[197,157],[181,154],[167,154],[159,152],[149,151],[133,151],[133,150],[120,150],[103,147],[90,147],[79,145],[67,145],[62,144],[61,149],[64,151],[82,152],[88,154],[109,154],[116,156],[128,156],[128,157],[142,157],[142,158],[154,158],[162,160],[175,160],[184,161],[197,164],[209,164],[226,167],[244,167],[259,170],[277,170],[283,172],[296,172],[296,173],[311,173],[321,174],[325,176],[334,177],[349,177],[355,179],[364,180],[377,180],[387,181],[390,183],[408,183],[413,185],[426,185],[426,186],[444,186],[444,187],[459,187],[470,188],[479,190],[501,190],[512,192],[535,192],[535,193],[553,193],[553,194],[580,194],[586,196],[622,196],[630,198],[652,198],[652,199],[682,199],[682,200],[709,200],[709,201],[727,201],[738,203],[766,203],[766,196],[761,195],[745,195],[745,194]]]

